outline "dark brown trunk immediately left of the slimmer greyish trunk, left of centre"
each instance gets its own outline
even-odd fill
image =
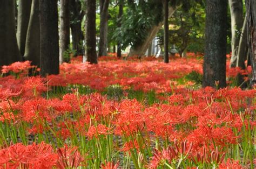
[[[87,0],[86,8],[86,61],[90,64],[97,64],[96,0]]]

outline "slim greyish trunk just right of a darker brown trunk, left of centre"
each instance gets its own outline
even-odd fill
[[[99,57],[107,55],[107,20],[109,18],[109,0],[100,0]]]

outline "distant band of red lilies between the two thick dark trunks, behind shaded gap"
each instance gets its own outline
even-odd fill
[[[185,61],[190,66],[178,64]],[[160,65],[159,65],[160,64]],[[70,84],[81,84],[90,86],[99,91],[105,87],[119,84],[124,88],[133,87],[135,90],[155,90],[157,93],[170,90],[169,79],[181,76],[196,70],[202,72],[201,65],[196,59],[186,61],[184,59],[174,60],[171,65],[164,65],[158,61],[107,61],[99,62],[98,65],[62,64],[60,75],[48,76],[49,85],[66,86]],[[88,70],[91,71],[88,71]],[[91,73],[95,72],[95,73]],[[178,73],[177,73],[178,72]]]

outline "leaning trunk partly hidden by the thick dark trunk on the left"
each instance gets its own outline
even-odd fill
[[[39,0],[32,2],[24,59],[30,60],[32,65],[40,67]]]

